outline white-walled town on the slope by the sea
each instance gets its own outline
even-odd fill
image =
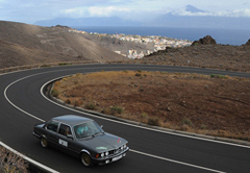
[[[80,33],[80,34],[86,34],[85,31],[79,31],[76,29],[69,29],[69,32],[73,33]],[[193,42],[189,40],[181,40],[181,39],[174,39],[174,38],[168,38],[163,36],[140,36],[140,35],[125,35],[125,34],[101,34],[97,32],[90,32],[88,34],[96,35],[98,37],[110,37],[115,38],[121,41],[128,41],[128,42],[135,42],[135,43],[141,43],[141,44],[153,44],[154,49],[153,50],[127,50],[127,52],[121,52],[119,50],[113,50],[114,52],[121,54],[125,57],[128,57],[130,59],[141,59],[146,55],[149,55],[153,52],[157,52],[159,50],[164,50],[166,47],[185,47],[190,46]]]

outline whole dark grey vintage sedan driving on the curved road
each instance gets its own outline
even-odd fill
[[[122,159],[129,150],[128,141],[106,133],[92,119],[64,115],[37,124],[33,135],[41,146],[55,147],[79,157],[84,166],[108,164]]]

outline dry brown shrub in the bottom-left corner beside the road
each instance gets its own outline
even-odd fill
[[[21,157],[0,146],[0,172],[27,173],[28,166]]]

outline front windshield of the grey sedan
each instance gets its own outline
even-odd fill
[[[77,139],[87,138],[103,132],[100,126],[94,121],[76,125],[73,128]]]

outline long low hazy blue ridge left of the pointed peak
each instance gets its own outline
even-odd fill
[[[141,22],[124,20],[119,17],[90,17],[90,18],[57,18],[52,20],[37,21],[34,23],[39,26],[140,26]]]

